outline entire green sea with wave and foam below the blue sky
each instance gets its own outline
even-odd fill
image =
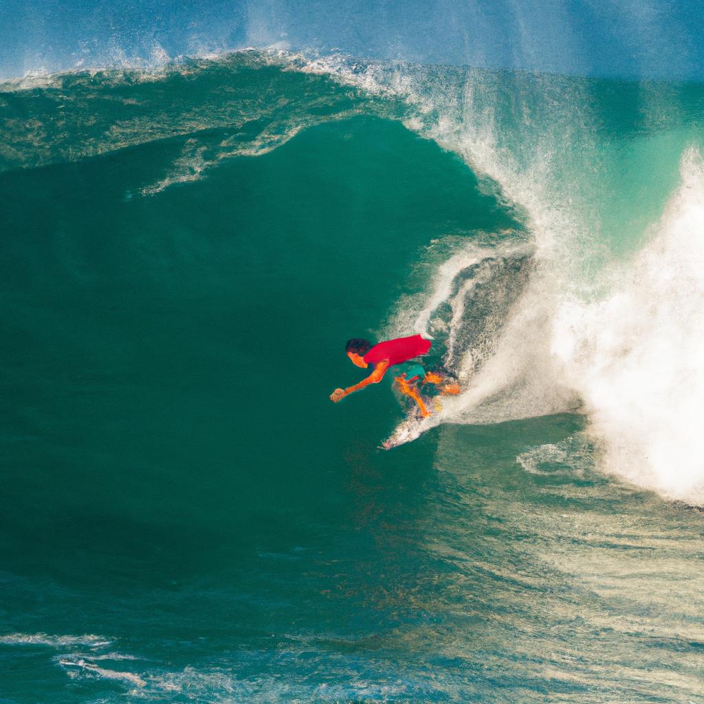
[[[704,702],[704,84],[261,49],[0,135],[0,702]],[[328,397],[415,332],[384,451]]]

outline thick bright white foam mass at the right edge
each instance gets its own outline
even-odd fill
[[[645,248],[612,275],[611,293],[566,301],[553,352],[589,412],[606,470],[704,502],[704,163],[682,158],[681,183]]]

